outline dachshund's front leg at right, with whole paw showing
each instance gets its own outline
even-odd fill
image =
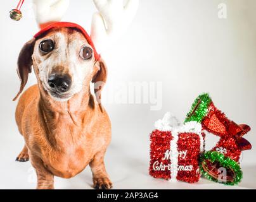
[[[104,156],[106,150],[99,151],[94,155],[93,160],[90,162],[90,167],[93,172],[93,187],[94,189],[111,189],[112,182],[106,173]]]

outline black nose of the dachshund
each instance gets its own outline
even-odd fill
[[[61,93],[67,92],[71,86],[71,78],[68,75],[51,74],[48,85]]]

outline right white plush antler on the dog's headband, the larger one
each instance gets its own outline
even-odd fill
[[[98,13],[94,13],[91,38],[99,53],[117,40],[129,27],[139,6],[138,0],[93,0]]]

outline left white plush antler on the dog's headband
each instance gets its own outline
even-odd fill
[[[35,4],[35,19],[41,26],[51,21],[60,21],[66,13],[69,0],[33,0]]]

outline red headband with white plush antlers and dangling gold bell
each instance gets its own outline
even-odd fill
[[[91,23],[91,37],[86,33],[84,28],[74,23],[56,23],[61,20],[66,13],[69,0],[33,0],[35,4],[35,19],[43,30],[49,30],[58,26],[79,28],[84,34],[88,42],[94,48],[94,55],[97,57],[101,52],[115,42],[122,33],[129,27],[132,19],[136,15],[139,0],[127,0],[124,5],[123,0],[93,0],[97,13],[94,13]],[[16,9],[10,11],[10,16],[13,20],[20,20],[22,13],[20,8],[24,0],[20,0]],[[53,26],[55,25],[55,26]],[[98,53],[96,52],[98,50]]]

